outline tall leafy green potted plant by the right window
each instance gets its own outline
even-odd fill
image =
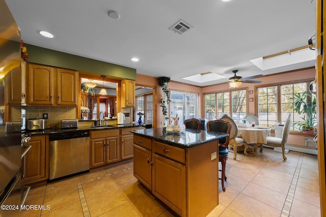
[[[302,94],[294,94],[294,111],[298,114],[304,114],[302,121],[294,121],[292,126],[299,127],[303,133],[313,134],[316,129],[316,97],[308,94],[307,91]]]

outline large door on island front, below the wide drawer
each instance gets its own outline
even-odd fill
[[[152,193],[176,213],[186,216],[185,166],[154,153],[152,158]]]

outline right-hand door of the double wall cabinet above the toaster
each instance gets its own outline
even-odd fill
[[[58,95],[57,104],[75,106],[77,105],[78,72],[67,69],[57,69],[58,73]]]

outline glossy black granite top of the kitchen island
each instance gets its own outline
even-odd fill
[[[190,148],[228,136],[226,133],[193,129],[186,129],[185,132],[180,134],[164,132],[163,128],[141,129],[131,132],[181,148]]]

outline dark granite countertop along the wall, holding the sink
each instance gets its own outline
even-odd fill
[[[64,133],[64,132],[77,132],[77,131],[87,131],[87,130],[109,130],[109,129],[120,129],[120,128],[131,128],[137,127],[130,123],[125,123],[124,125],[109,125],[109,126],[96,126],[96,127],[78,127],[78,128],[48,128],[44,131],[25,131],[22,134],[27,135],[42,135],[42,134],[53,134],[53,133]]]

